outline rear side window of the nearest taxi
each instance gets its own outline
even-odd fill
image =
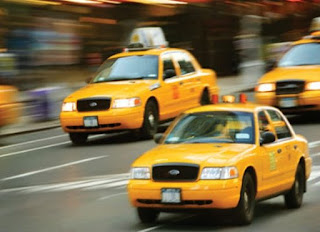
[[[272,123],[274,124],[274,129],[276,131],[278,139],[285,139],[292,137],[291,131],[284,121],[283,117],[275,110],[267,110]]]

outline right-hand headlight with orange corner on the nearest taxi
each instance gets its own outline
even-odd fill
[[[201,180],[227,180],[238,177],[236,167],[204,168],[201,173]]]

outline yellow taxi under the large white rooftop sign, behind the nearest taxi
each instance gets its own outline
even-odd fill
[[[151,138],[160,122],[209,104],[217,93],[215,72],[188,51],[138,47],[108,58],[87,86],[64,100],[60,121],[74,144],[121,130]]]

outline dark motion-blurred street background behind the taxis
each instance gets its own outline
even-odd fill
[[[13,89],[0,90],[0,104],[21,103],[14,114],[28,120],[56,119],[62,99],[136,27],[161,27],[170,47],[219,78],[263,72],[319,15],[320,0],[1,0],[0,84]]]

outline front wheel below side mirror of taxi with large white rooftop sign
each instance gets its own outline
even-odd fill
[[[154,101],[149,100],[144,110],[141,136],[143,139],[151,139],[157,133],[159,126],[158,108]]]

